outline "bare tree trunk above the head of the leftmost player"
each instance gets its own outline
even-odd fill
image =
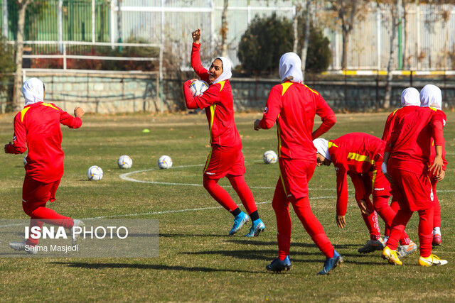
[[[26,8],[34,0],[16,0],[18,4],[19,16],[17,22],[16,37],[16,73],[14,74],[14,92],[13,92],[13,111],[19,111],[21,106],[21,88],[22,88],[22,56],[23,56],[23,28],[26,23]]]

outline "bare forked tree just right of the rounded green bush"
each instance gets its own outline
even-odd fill
[[[368,0],[333,0],[329,1],[332,9],[336,11],[341,21],[341,32],[343,34],[343,52],[341,55],[341,68],[348,67],[348,46],[350,32],[353,30],[355,18],[363,9]]]

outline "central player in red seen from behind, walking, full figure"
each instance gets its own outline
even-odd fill
[[[266,266],[267,270],[282,271],[291,268],[291,217],[289,202],[304,228],[326,256],[324,275],[339,263],[341,255],[333,249],[323,227],[309,203],[308,182],[316,167],[316,148],[313,139],[326,133],[336,123],[335,114],[319,92],[306,87],[301,72],[301,60],[296,53],[286,53],[279,60],[279,76],[282,84],[275,85],[269,93],[262,120],[256,120],[254,128],[272,128],[277,123],[278,157],[280,177],[275,188],[272,206],[277,216],[278,258]],[[313,132],[314,117],[322,124]]]

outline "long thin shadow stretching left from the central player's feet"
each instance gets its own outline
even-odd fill
[[[228,270],[220,268],[203,268],[203,267],[186,267],[172,265],[152,265],[152,264],[129,264],[129,263],[82,263],[82,262],[50,262],[55,265],[67,265],[70,268],[87,268],[87,269],[102,269],[102,268],[137,268],[141,270],[180,270],[188,272],[247,272],[260,273],[262,271],[254,270]]]

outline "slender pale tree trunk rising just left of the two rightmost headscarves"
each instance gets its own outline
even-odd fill
[[[394,55],[395,55],[395,38],[397,37],[397,28],[402,22],[401,13],[402,13],[402,0],[393,0],[390,1],[390,18],[392,23],[391,28],[391,35],[390,35],[390,57],[389,62],[387,63],[387,80],[385,82],[385,96],[384,96],[384,104],[382,105],[384,109],[388,109],[390,107],[390,95],[392,93],[392,68],[394,62]],[[400,60],[401,58],[399,58]]]

